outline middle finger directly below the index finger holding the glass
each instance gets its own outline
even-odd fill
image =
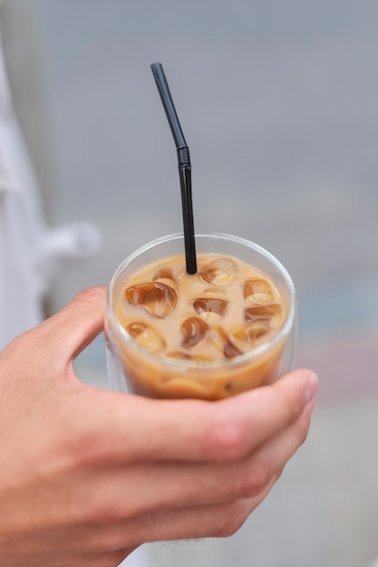
[[[280,476],[304,442],[309,424],[310,411],[305,408],[293,425],[257,447],[251,456],[224,464],[136,463],[112,467],[111,475],[104,465],[74,500],[90,518],[106,524],[142,512],[255,497]]]

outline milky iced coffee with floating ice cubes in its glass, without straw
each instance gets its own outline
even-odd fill
[[[223,399],[276,380],[295,345],[285,269],[247,241],[199,235],[198,271],[187,274],[173,238],[113,277],[106,325],[108,356],[118,364],[113,386],[125,389],[124,381],[152,398]]]

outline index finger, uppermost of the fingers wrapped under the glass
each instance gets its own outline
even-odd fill
[[[313,372],[296,370],[272,386],[219,402],[118,396],[113,399],[111,420],[109,409],[107,414],[111,427],[107,457],[237,459],[294,423],[316,388]],[[97,405],[100,412],[107,408],[104,400],[102,408]],[[105,424],[105,419],[100,422]]]

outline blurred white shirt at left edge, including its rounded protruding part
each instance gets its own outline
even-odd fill
[[[98,248],[86,223],[50,229],[12,103],[0,38],[0,350],[43,319],[52,277]]]

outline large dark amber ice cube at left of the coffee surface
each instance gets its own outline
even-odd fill
[[[131,305],[141,305],[158,319],[169,315],[177,303],[175,290],[167,283],[162,282],[131,285],[125,291],[125,298]]]

